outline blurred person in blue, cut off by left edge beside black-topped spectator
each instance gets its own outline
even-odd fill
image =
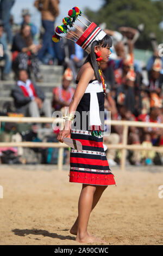
[[[2,74],[2,80],[9,80],[10,79],[10,71],[11,71],[11,54],[8,51],[8,45],[6,40],[6,35],[3,31],[3,23],[0,21],[0,47],[1,47],[1,53],[0,53],[0,62],[1,60],[4,60],[4,69]]]

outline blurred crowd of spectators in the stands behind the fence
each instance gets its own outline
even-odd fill
[[[15,88],[11,95],[14,98],[15,111],[12,115],[40,117],[43,113],[45,117],[52,117],[53,111],[64,111],[64,107],[70,104],[74,93],[74,86],[71,85],[71,82],[75,83],[77,72],[83,65],[87,53],[73,41],[71,33],[57,44],[52,41],[55,19],[59,15],[59,0],[36,0],[34,2],[35,8],[41,13],[40,31],[31,22],[31,14],[28,9],[22,10],[21,24],[14,23],[14,17],[10,15],[14,2],[15,0],[1,0],[0,2],[0,44],[3,46],[0,51],[0,65],[1,62],[3,63],[1,80],[10,81],[12,79],[11,72],[14,74]],[[74,33],[76,36],[80,36],[81,31],[84,31],[83,27],[79,27]],[[120,27],[118,31],[105,29],[105,32],[111,36],[113,42],[112,54],[108,63],[101,65],[107,84],[105,111],[111,112],[112,120],[162,123],[163,57],[159,54],[154,34],[150,35],[153,54],[145,64],[134,57],[134,44],[143,33],[142,27],[136,29]],[[43,82],[43,75],[39,68],[42,64],[63,67],[62,83],[59,87],[53,88],[52,101],[46,99],[39,86],[39,83]],[[11,113],[9,114],[11,115]],[[23,133],[24,127],[20,128],[15,124],[9,126],[8,124],[4,123],[1,127],[1,141],[4,139],[3,133],[11,133],[11,131],[13,136],[17,136],[14,137],[17,141],[45,141],[45,138],[41,140],[38,137],[38,128],[41,128],[41,125],[31,124],[28,132]],[[45,124],[44,127],[50,129],[51,125]],[[122,143],[122,132],[123,126],[111,126],[111,135],[104,136],[104,144]],[[55,131],[53,135],[47,137],[46,141],[57,142],[57,132]],[[128,144],[161,147],[163,145],[163,129],[129,127]],[[1,148],[1,158],[4,159],[2,162],[9,159],[5,153],[24,155],[20,148],[16,153],[11,152],[12,150]],[[36,163],[38,161],[40,163],[57,163],[57,151],[54,149],[32,150],[41,155],[40,160],[37,159]],[[27,155],[29,157],[29,152]],[[68,156],[69,153],[66,151],[66,163],[68,163]],[[120,163],[121,152],[106,150],[106,157],[110,166],[116,166]],[[15,159],[13,161],[16,163],[24,161],[17,159],[16,156]],[[137,166],[163,164],[162,161],[162,154],[154,153],[152,150],[128,151],[127,163],[130,164]],[[29,162],[33,161],[29,160]]]

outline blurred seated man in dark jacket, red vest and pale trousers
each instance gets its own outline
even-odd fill
[[[14,97],[17,113],[23,113],[25,117],[40,117],[43,111],[46,117],[52,117],[51,102],[45,99],[42,90],[28,79],[26,70],[19,70],[18,81],[11,95]]]

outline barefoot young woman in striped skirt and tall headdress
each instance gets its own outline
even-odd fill
[[[81,151],[71,148],[70,152],[70,182],[82,183],[78,217],[70,233],[77,235],[78,242],[102,243],[104,241],[87,231],[87,224],[91,211],[106,187],[116,185],[103,148],[104,118],[101,120],[106,85],[100,64],[108,62],[112,40],[92,22],[77,44],[89,55],[78,72],[77,87],[68,109],[69,114],[66,115],[64,129],[59,132],[57,138],[63,142],[63,138],[71,136],[82,143]],[[88,118],[82,115],[84,112],[89,112]],[[72,127],[71,122],[75,116],[76,127]]]

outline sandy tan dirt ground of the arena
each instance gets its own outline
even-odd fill
[[[79,245],[69,230],[82,184],[68,182],[68,172],[68,166],[0,166],[0,245]],[[117,186],[92,211],[90,233],[108,245],[162,245],[163,167],[112,173]]]

